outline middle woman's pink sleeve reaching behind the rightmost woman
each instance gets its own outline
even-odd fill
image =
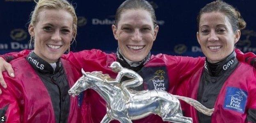
[[[203,57],[182,57],[171,55],[156,55],[152,63],[160,66],[162,61],[167,67],[169,79],[169,93],[175,93],[176,87],[184,83],[187,78],[191,77],[200,68],[203,68],[205,58]]]

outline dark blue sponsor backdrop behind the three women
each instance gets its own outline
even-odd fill
[[[116,9],[124,0],[70,0],[78,16],[78,36],[73,51],[101,49],[115,52],[117,41],[112,35]],[[152,53],[171,55],[203,55],[196,39],[197,14],[213,0],[149,0],[155,8],[160,30]],[[247,22],[238,48],[256,53],[256,0],[225,0],[240,10]],[[0,0],[0,54],[28,48],[27,32],[34,0]]]

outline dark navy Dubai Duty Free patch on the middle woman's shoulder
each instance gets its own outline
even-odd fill
[[[169,90],[169,78],[165,66],[143,67],[139,74],[142,75],[149,90]]]

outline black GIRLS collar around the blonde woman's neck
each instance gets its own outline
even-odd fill
[[[40,73],[50,73],[54,74],[57,71],[60,71],[63,67],[60,62],[60,59],[58,62],[56,62],[56,68],[55,70],[53,67],[46,62],[45,60],[41,59],[39,56],[37,56],[34,52],[30,52],[30,54],[27,56],[27,62],[30,63],[30,65]]]

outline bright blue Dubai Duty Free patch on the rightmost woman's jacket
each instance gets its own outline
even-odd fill
[[[228,87],[225,96],[224,108],[237,112],[245,112],[247,92],[235,87]]]

